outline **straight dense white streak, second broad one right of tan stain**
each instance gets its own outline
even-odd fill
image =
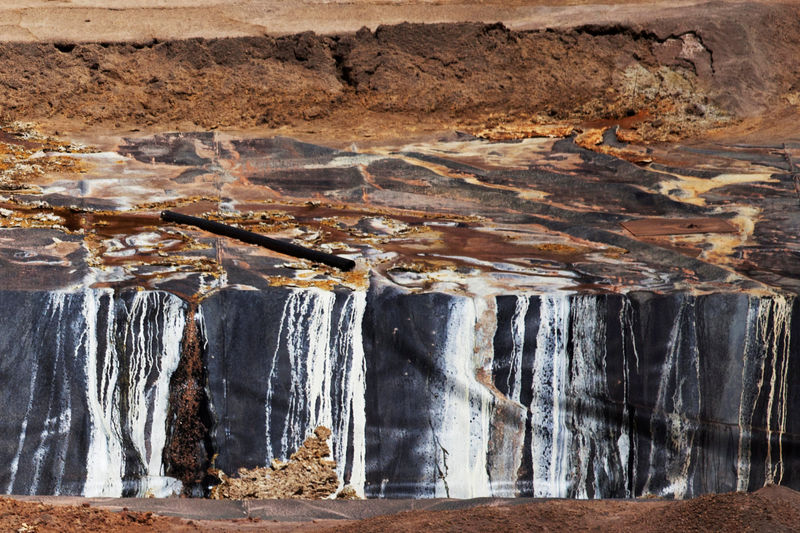
[[[531,456],[534,497],[567,495],[565,381],[569,333],[567,296],[542,296],[533,360]]]

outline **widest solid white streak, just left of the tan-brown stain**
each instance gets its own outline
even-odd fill
[[[447,331],[435,366],[442,389],[431,426],[437,445],[438,476],[434,495],[475,498],[489,495],[486,456],[491,397],[475,377],[476,308],[471,298],[453,298]]]

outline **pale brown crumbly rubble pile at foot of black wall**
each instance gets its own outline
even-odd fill
[[[214,499],[327,498],[336,492],[339,478],[336,462],[327,459],[331,450],[327,440],[331,431],[323,426],[314,430],[287,462],[273,460],[270,467],[240,468],[238,477],[217,471],[222,481],[211,490]]]

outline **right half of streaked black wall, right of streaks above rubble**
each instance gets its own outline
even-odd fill
[[[474,301],[388,293],[375,309],[391,318],[368,312],[364,328],[368,353],[383,354],[368,358],[368,384],[382,376],[367,387],[370,495],[689,497],[791,483],[791,299],[502,296],[486,353],[471,342]],[[401,327],[385,335],[387,323]]]

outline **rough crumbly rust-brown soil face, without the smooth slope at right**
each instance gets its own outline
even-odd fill
[[[621,30],[400,25],[333,37],[16,43],[0,45],[0,63],[7,66],[0,72],[6,119],[108,128],[335,123],[368,133],[379,125],[396,134],[394,121],[441,129],[509,119],[615,118],[643,107],[677,114],[681,120],[670,123],[688,126],[697,120],[683,120],[685,109],[707,100],[690,69],[660,72],[652,40]],[[637,76],[656,92],[634,94]],[[657,94],[654,84],[664,83],[675,94]],[[709,125],[727,118],[713,105],[709,112]]]

